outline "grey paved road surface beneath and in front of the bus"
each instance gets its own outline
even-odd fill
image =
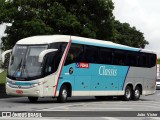
[[[158,113],[160,116],[160,90],[154,95],[142,96],[139,101],[121,101],[116,98],[97,101],[93,97],[74,97],[61,104],[53,98],[40,98],[38,103],[29,103],[25,97],[0,99],[0,111],[30,111],[52,116],[41,118],[45,120],[128,120],[128,117],[124,117],[128,115],[134,116],[129,118],[131,120],[160,120],[160,117],[147,116],[152,113]],[[136,117],[138,114],[142,116],[145,114],[145,117]],[[66,117],[67,115],[72,117]]]

